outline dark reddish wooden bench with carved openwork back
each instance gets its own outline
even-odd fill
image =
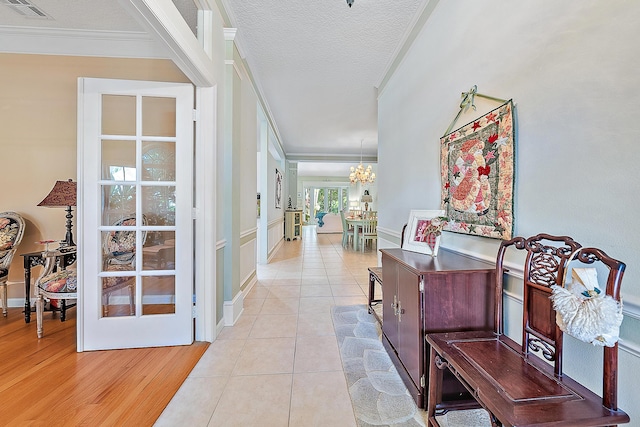
[[[503,333],[507,248],[526,251],[521,344]],[[496,330],[426,336],[431,345],[429,425],[438,425],[435,416],[442,401],[444,370],[453,373],[489,412],[494,426],[611,426],[629,422],[629,416],[617,406],[617,344],[604,347],[602,397],[562,372],[563,333],[556,325],[550,286],[563,283],[569,258],[578,248],[570,237],[547,234],[502,242],[496,264]],[[602,264],[602,271],[608,269],[606,293],[619,300],[624,263],[595,248],[580,249],[576,258],[584,264]]]

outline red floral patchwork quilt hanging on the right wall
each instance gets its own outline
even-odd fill
[[[475,109],[473,95],[483,96],[476,94],[475,86],[463,93]],[[465,101],[460,104],[461,112],[464,107],[468,107]],[[512,237],[514,159],[511,100],[447,131],[440,139],[441,208],[448,217],[445,230],[504,240]]]

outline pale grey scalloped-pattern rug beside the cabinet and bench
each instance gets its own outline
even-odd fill
[[[426,412],[409,394],[380,340],[382,331],[365,305],[332,307],[349,395],[359,427],[426,426]],[[454,411],[438,417],[441,427],[490,426],[487,413]]]

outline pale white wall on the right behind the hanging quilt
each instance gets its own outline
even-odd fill
[[[378,106],[379,230],[397,230],[399,239],[410,209],[440,206],[439,138],[461,92],[477,85],[513,98],[514,235],[569,235],[628,264],[621,391],[640,380],[632,369],[640,356],[638,22],[640,3],[632,1],[442,0],[381,87]],[[498,106],[476,104],[456,127]],[[493,259],[498,244],[442,239],[443,247]],[[599,365],[572,345],[565,360],[582,380]],[[619,404],[640,425],[637,393],[621,393]]]

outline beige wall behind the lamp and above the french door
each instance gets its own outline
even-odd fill
[[[65,235],[64,209],[36,205],[56,180],[76,179],[78,77],[188,82],[167,60],[0,54],[0,211],[20,213],[27,226],[9,274],[10,298],[24,296],[19,254]]]

